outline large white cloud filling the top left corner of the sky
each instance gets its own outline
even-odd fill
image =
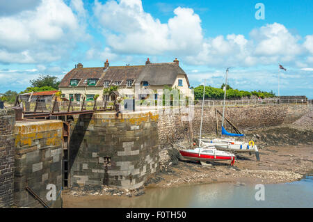
[[[0,27],[0,63],[58,61],[84,33],[62,0],[42,0],[33,10],[0,17]]]

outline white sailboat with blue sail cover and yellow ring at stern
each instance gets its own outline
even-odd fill
[[[227,77],[228,71],[230,68],[226,70],[226,78],[225,78],[225,88],[224,88],[224,104],[223,104],[223,116],[222,116],[222,138],[214,138],[212,140],[200,140],[199,145],[214,145],[218,150],[229,150],[232,152],[255,152],[255,157],[257,161],[259,161],[259,150],[257,149],[257,145],[255,145],[254,141],[249,141],[249,143],[243,141],[236,141],[235,138],[223,138],[223,135],[226,136],[234,136],[234,137],[242,137],[244,134],[232,134],[227,132],[227,130],[223,127],[225,120],[225,100],[226,100],[226,90],[227,90]]]

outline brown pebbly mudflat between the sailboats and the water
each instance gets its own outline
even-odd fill
[[[236,163],[211,162],[202,166],[195,161],[177,161],[165,170],[147,179],[145,187],[134,191],[102,187],[86,191],[68,189],[63,191],[63,207],[79,207],[79,203],[99,200],[131,201],[145,194],[145,189],[170,188],[191,184],[231,182],[236,184],[275,184],[300,180],[313,173],[312,145],[268,146],[259,150],[261,161],[255,155],[237,155]]]

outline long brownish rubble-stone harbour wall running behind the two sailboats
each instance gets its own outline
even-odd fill
[[[215,108],[223,112],[223,106],[204,107],[203,111],[203,134],[216,133],[216,116]],[[161,148],[167,149],[171,143],[179,141],[190,141],[189,136],[191,131],[193,135],[200,134],[201,122],[200,106],[194,107],[193,120],[190,122],[184,121],[182,116],[184,111],[173,113],[172,111],[159,110],[159,143]],[[290,124],[312,110],[312,105],[307,104],[278,104],[278,105],[250,105],[250,106],[227,106],[225,116],[241,130],[248,132],[251,129],[262,127],[272,127],[282,124]],[[220,133],[220,125],[222,117],[218,116],[218,132]],[[226,122],[226,129],[230,132],[230,125]]]

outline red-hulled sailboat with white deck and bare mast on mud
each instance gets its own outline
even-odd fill
[[[232,154],[232,152],[217,150],[216,147],[212,144],[201,146],[202,145],[201,134],[202,134],[202,121],[203,121],[204,93],[205,93],[205,79],[204,79],[204,86],[203,86],[199,147],[193,150],[179,150],[179,153],[185,159],[200,161],[202,165],[207,165],[206,164],[207,161],[231,160],[230,166],[233,166],[234,162],[236,161],[236,155]]]

